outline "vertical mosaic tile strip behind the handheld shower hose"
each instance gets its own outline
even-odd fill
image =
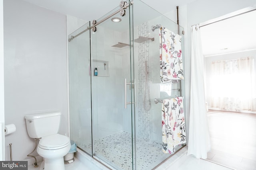
[[[138,26],[138,36],[148,37],[148,22]],[[138,135],[150,139],[150,111],[144,108],[144,97],[149,96],[146,83],[149,86],[149,78],[146,82],[146,65],[149,71],[148,41],[138,45]],[[146,64],[145,64],[146,63]],[[149,87],[148,87],[149,88]],[[146,93],[146,94],[145,94]],[[145,101],[147,102],[147,101]],[[149,107],[146,104],[146,107]]]

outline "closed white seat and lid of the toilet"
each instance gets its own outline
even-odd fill
[[[68,146],[70,139],[67,136],[54,134],[46,137],[42,137],[39,141],[38,147],[47,150],[61,149]]]

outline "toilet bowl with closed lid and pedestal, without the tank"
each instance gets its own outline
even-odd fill
[[[40,139],[37,153],[44,158],[44,170],[65,170],[64,156],[70,150],[70,139],[55,134]]]

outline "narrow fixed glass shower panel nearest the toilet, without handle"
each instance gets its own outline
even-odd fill
[[[90,31],[88,27],[90,27],[90,22],[68,37],[69,106],[70,138],[80,149],[92,155]]]

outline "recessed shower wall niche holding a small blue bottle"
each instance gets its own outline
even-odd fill
[[[109,77],[109,64],[108,61],[102,61],[102,60],[92,60],[92,75],[96,76],[94,74],[95,68],[97,68],[97,76],[98,77]]]

